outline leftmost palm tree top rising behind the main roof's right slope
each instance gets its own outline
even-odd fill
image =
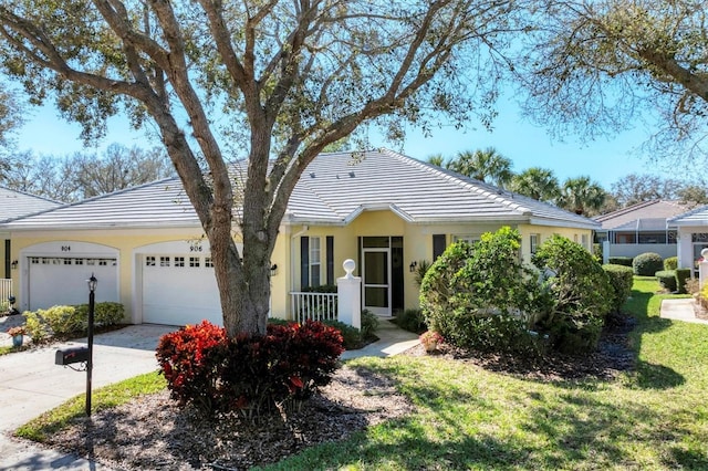
[[[447,168],[458,174],[503,188],[511,181],[511,160],[500,155],[493,147],[485,150],[466,150],[447,164]]]

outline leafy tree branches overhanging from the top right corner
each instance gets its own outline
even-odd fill
[[[705,157],[705,12],[702,0],[542,2],[514,64],[528,85],[527,111],[559,135],[575,127],[587,138],[658,111],[655,148]]]

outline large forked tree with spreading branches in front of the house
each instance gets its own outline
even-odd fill
[[[434,113],[487,123],[518,3],[12,0],[0,3],[0,54],[86,139],[122,109],[155,123],[210,242],[233,335],[266,329],[270,257],[308,164],[362,124],[399,137]]]

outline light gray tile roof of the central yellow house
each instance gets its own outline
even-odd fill
[[[530,198],[420,163],[391,150],[322,154],[308,167],[288,205],[284,223],[346,224],[362,211],[389,209],[413,222],[540,223],[585,229],[600,224]],[[10,229],[199,227],[171,178],[3,224]]]

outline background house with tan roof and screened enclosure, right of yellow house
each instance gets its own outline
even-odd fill
[[[644,252],[676,257],[676,230],[666,221],[688,208],[678,201],[653,200],[593,218],[602,224],[595,242],[603,247],[604,263],[611,257],[634,258]]]

